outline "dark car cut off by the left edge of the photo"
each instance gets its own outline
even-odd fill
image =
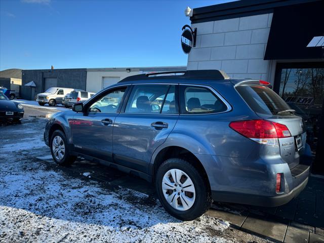
[[[11,101],[3,93],[0,93],[0,120],[13,119],[19,121],[24,116],[24,107],[18,102]]]

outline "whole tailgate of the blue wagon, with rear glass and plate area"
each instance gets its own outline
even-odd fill
[[[306,149],[306,131],[301,116],[268,87],[257,84],[245,84],[236,90],[261,118],[285,125],[289,132],[283,130],[283,138],[279,138],[280,156],[292,169],[299,165]],[[285,135],[285,133],[287,133]]]

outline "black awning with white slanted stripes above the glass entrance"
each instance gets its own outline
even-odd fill
[[[275,8],[264,60],[324,58],[321,36],[324,1]]]

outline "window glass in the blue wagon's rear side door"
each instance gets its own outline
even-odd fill
[[[125,113],[159,114],[170,85],[135,85]]]

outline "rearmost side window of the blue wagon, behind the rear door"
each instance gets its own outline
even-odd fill
[[[197,86],[181,86],[181,113],[208,114],[225,111],[227,106],[210,90]]]

